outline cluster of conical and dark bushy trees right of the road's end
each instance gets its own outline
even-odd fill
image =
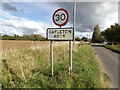
[[[92,42],[101,43],[107,41],[112,44],[120,44],[120,25],[115,23],[106,30],[100,32],[99,25],[94,28]]]

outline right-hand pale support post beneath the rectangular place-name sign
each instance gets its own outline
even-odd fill
[[[72,77],[72,41],[69,41],[69,75]]]

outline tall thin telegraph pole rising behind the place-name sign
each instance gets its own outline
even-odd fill
[[[73,27],[74,27],[74,36],[75,36],[75,31],[76,31],[76,0],[74,0],[74,12],[73,12]],[[73,51],[75,48],[75,38],[73,40]]]

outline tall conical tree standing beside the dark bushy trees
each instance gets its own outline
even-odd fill
[[[94,28],[94,32],[93,32],[93,36],[92,36],[92,42],[94,42],[94,43],[103,42],[103,38],[101,36],[99,25],[96,25],[95,28]]]

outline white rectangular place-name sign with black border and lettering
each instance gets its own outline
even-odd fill
[[[74,32],[73,28],[48,28],[47,39],[48,40],[73,40]]]

